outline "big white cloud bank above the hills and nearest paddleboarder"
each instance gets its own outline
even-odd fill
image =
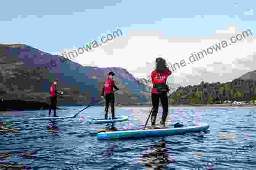
[[[237,25],[227,25],[226,30],[216,30],[209,37],[170,37],[163,36],[163,31],[129,31],[123,37],[117,37],[106,44],[85,52],[77,58],[81,65],[98,67],[122,67],[135,77],[146,78],[155,67],[155,58],[165,58],[168,63],[187,63],[192,52],[218,44],[222,40],[242,33]],[[173,72],[169,83],[181,85],[205,82],[227,82],[253,71],[255,57],[255,38],[249,36],[218,52],[207,55],[194,63]]]

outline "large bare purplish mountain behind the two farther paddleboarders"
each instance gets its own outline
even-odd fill
[[[126,69],[79,65],[59,55],[51,55],[26,44],[0,44],[0,96],[4,100],[49,101],[49,85],[58,79],[64,91],[58,105],[96,103],[107,72],[114,71],[120,91],[116,104],[143,104],[150,91]]]

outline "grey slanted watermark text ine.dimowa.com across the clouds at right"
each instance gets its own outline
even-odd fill
[[[229,45],[234,44],[237,41],[241,41],[242,39],[244,39],[250,35],[252,35],[251,30],[246,30],[246,31],[243,31],[242,34],[237,34],[236,36],[232,36],[229,39],[230,43],[228,43],[229,41],[227,41],[227,40],[222,40],[218,44],[215,44],[215,46],[211,46],[211,47],[207,48],[206,50],[197,52],[197,54],[195,52],[191,53],[191,55],[189,57],[189,61],[190,61],[190,63],[194,63],[195,61],[198,61],[201,58],[206,57],[208,54],[213,54],[214,50],[220,51],[221,49],[224,49],[224,48],[228,47]],[[180,68],[180,66],[182,66],[182,67],[186,66],[186,61],[182,59],[181,61],[179,61],[179,63],[174,63],[174,64],[168,63],[168,66],[169,66],[169,69],[171,68],[172,71],[175,71],[175,70],[177,70],[177,68]],[[177,68],[176,68],[176,66],[177,66]]]

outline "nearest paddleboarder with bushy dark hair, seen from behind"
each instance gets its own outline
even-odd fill
[[[151,79],[153,83],[151,99],[152,99],[152,116],[151,116],[151,125],[152,129],[155,129],[155,121],[157,118],[159,100],[163,107],[162,121],[160,122],[160,127],[165,127],[166,117],[168,115],[168,96],[170,89],[166,84],[168,76],[171,75],[170,69],[166,65],[165,59],[158,57],[155,60],[156,69],[151,73]]]

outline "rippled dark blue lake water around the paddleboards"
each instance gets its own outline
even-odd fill
[[[83,108],[68,107],[57,110],[57,115],[72,115]],[[143,126],[150,110],[116,108],[116,116],[127,115],[129,121],[115,123],[115,127]],[[97,140],[91,133],[106,124],[90,125],[79,117],[104,118],[103,107],[89,107],[77,118],[56,121],[20,121],[48,116],[48,110],[12,112],[0,116],[0,121],[10,121],[8,126],[18,129],[18,133],[0,134],[0,152],[9,152],[2,153],[0,164],[25,164],[33,170],[256,170],[255,113],[232,107],[169,109],[166,124],[202,121],[210,128],[166,137]],[[161,116],[159,110],[157,123]],[[24,157],[24,152],[30,152],[30,157]]]

